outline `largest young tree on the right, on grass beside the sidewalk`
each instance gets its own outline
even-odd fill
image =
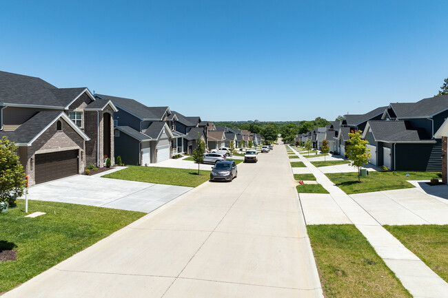
[[[370,149],[367,148],[369,142],[361,138],[362,133],[363,131],[360,130],[349,133],[350,140],[347,141],[349,145],[347,145],[344,153],[348,160],[350,160],[350,164],[353,167],[358,167],[358,182],[361,182],[360,167],[369,163],[371,158]]]

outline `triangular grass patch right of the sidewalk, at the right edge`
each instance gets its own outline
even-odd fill
[[[448,282],[448,225],[384,227]]]

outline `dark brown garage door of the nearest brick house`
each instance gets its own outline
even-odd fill
[[[78,150],[36,154],[35,158],[36,184],[78,173]]]

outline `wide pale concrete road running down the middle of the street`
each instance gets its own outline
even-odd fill
[[[294,187],[277,145],[2,298],[323,297]]]

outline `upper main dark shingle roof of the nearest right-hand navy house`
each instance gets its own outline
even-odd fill
[[[448,95],[424,98],[416,103],[391,103],[391,107],[397,118],[427,118],[448,109]]]

